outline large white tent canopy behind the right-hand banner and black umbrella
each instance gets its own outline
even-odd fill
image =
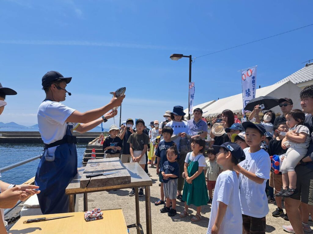
[[[277,99],[288,97],[291,98],[294,103],[293,108],[301,110],[299,96],[300,92],[301,89],[297,85],[291,81],[285,81],[257,89],[255,97],[272,96],[276,97]],[[213,104],[202,109],[203,117],[216,117],[217,115],[221,114],[223,110],[227,109],[232,110],[234,113],[241,113],[243,109],[242,93],[215,101]],[[273,110],[275,113],[281,113],[279,106],[276,106],[271,110]]]

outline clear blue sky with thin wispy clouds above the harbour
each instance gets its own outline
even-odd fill
[[[126,86],[123,120],[162,120],[165,110],[188,104],[188,59],[172,61],[172,53],[197,57],[313,23],[312,1],[0,4],[0,82],[18,92],[7,97],[0,121],[25,125],[37,123],[47,71],[73,77],[67,88],[72,96],[64,104],[79,111],[105,105],[110,91]],[[195,104],[240,93],[238,71],[249,66],[258,65],[258,86],[289,76],[313,59],[312,36],[310,26],[197,58]]]

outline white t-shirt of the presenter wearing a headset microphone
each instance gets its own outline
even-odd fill
[[[38,128],[45,144],[61,140],[67,128],[66,119],[75,111],[62,103],[45,100],[38,107]],[[48,154],[54,154],[56,147],[48,149]]]

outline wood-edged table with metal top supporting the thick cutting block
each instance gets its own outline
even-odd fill
[[[145,202],[146,202],[146,233],[151,234],[151,203],[150,203],[150,186],[152,186],[152,180],[147,173],[141,168],[139,163],[124,163],[125,168],[131,175],[131,183],[106,186],[102,188],[80,188],[80,178],[84,172],[84,168],[79,168],[78,173],[74,179],[69,183],[65,189],[65,193],[69,195],[69,211],[74,212],[74,195],[84,194],[84,211],[88,210],[88,198],[87,193],[100,192],[106,190],[122,189],[122,188],[139,188],[145,187]],[[136,229],[137,234],[140,234],[140,213],[139,213],[139,196],[138,189],[135,189],[135,205],[136,205]]]

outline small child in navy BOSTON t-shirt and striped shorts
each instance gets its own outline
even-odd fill
[[[160,170],[163,176],[163,189],[164,195],[166,197],[166,206],[164,206],[160,211],[161,213],[168,212],[168,216],[174,216],[176,212],[176,195],[177,195],[177,179],[179,177],[179,164],[176,162],[178,152],[176,147],[171,146],[166,151],[166,162]],[[170,209],[172,202],[172,209]]]

